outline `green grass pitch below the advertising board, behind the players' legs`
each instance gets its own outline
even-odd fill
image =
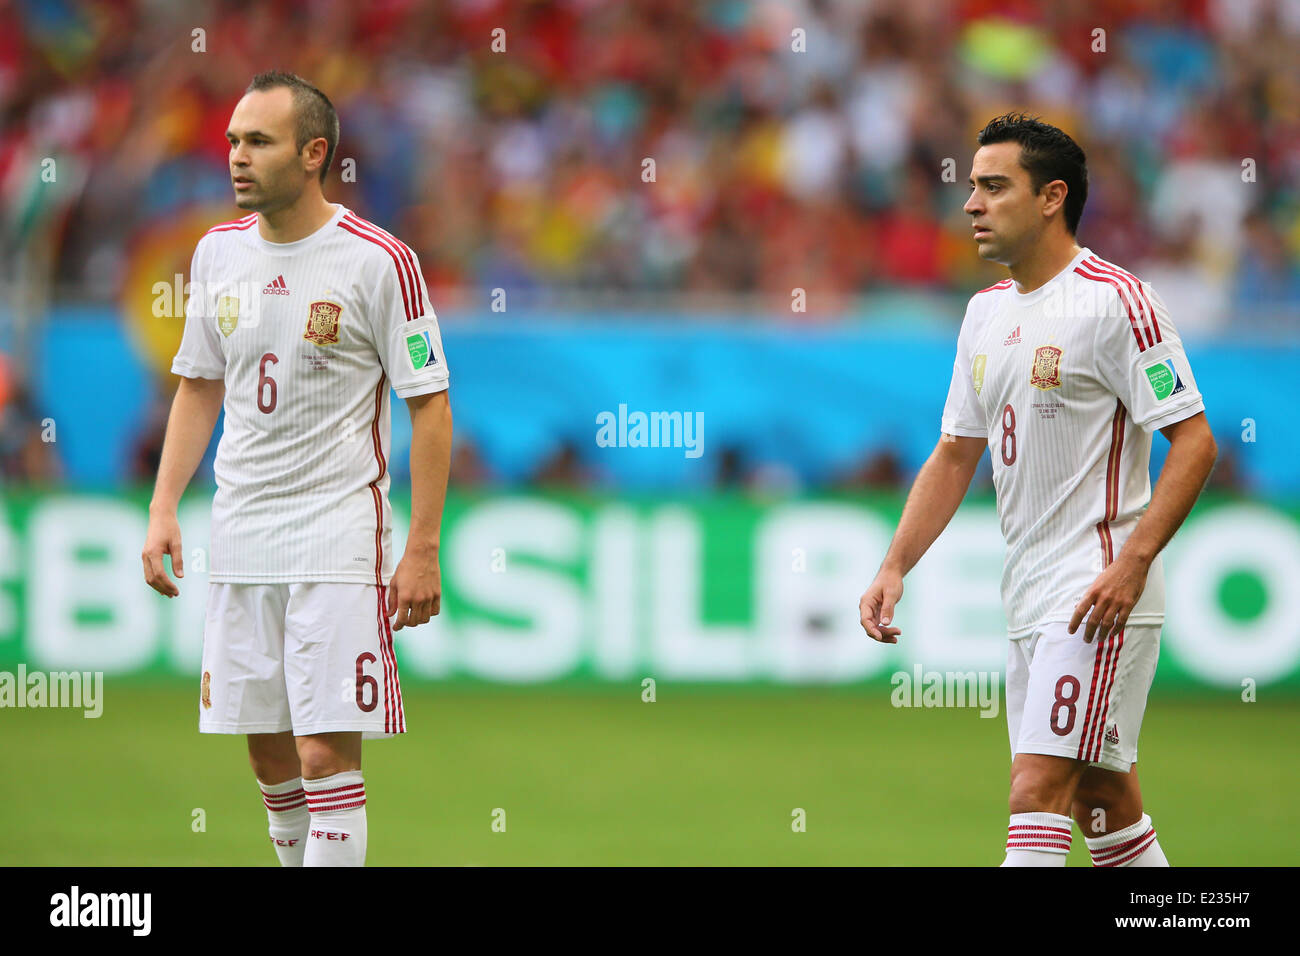
[[[404,698],[411,732],[365,744],[369,865],[1002,858],[1001,713],[894,709],[888,687],[660,682],[645,704],[640,685],[458,684]],[[274,865],[243,737],[196,723],[188,683],[110,683],[99,719],[0,711],[0,864]],[[1152,700],[1139,770],[1173,864],[1300,862],[1297,726],[1294,698]],[[1078,834],[1069,862],[1088,865]]]

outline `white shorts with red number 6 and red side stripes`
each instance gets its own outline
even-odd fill
[[[406,732],[376,584],[208,584],[200,734]]]

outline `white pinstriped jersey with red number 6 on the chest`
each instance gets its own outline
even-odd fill
[[[190,278],[172,371],[226,384],[211,580],[387,584],[389,386],[447,388],[415,254],[342,206],[287,243],[255,213],[209,229]]]

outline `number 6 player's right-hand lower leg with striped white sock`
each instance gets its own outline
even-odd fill
[[[365,780],[360,731],[300,736],[298,758],[311,812],[303,866],[361,866]]]

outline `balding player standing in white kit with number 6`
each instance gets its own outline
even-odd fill
[[[244,219],[191,267],[181,376],[143,550],[182,578],[181,493],[225,407],[212,505],[199,730],[244,734],[286,866],[365,862],[363,737],[406,732],[393,631],[439,610],[447,364],[415,254],[325,200],[338,116],[257,74],[226,131]],[[411,528],[394,567],[390,406],[411,412]]]

